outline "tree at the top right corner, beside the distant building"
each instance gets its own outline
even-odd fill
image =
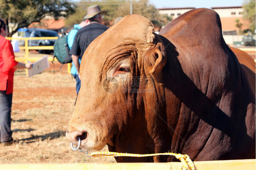
[[[249,21],[249,29],[253,34],[255,34],[255,0],[245,0],[243,4],[243,9],[244,19]]]

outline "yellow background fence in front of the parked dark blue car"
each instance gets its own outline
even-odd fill
[[[20,57],[19,59],[15,59],[16,61],[23,61],[27,62],[29,61],[36,61],[40,58],[38,57],[32,57],[29,58],[29,50],[53,50],[53,46],[28,46],[28,40],[57,40],[58,37],[18,37],[18,38],[12,38],[12,37],[6,37],[7,40],[24,40],[25,46],[19,46],[20,50],[25,50],[25,56]],[[51,61],[52,58],[48,57],[48,60]],[[67,64],[67,73],[70,74],[71,69],[71,63]],[[26,75],[28,75],[28,72],[26,70]]]

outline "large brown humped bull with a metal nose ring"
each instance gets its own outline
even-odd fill
[[[128,15],[85,51],[67,138],[77,145],[80,137],[83,150],[107,144],[110,151],[170,151],[198,161],[255,158],[255,62],[235,54],[214,10],[180,15],[160,35],[143,16]]]

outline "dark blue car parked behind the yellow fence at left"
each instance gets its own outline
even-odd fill
[[[21,37],[59,37],[58,33],[53,30],[44,30],[38,28],[23,29]],[[28,46],[51,46],[56,40],[28,40]],[[18,41],[20,46],[25,45],[24,40]],[[39,53],[50,54],[52,50],[38,50]]]

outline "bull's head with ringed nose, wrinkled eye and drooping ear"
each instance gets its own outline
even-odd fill
[[[83,150],[101,150],[107,144],[111,151],[155,153],[155,120],[149,113],[153,108],[158,112],[160,89],[154,81],[161,81],[166,61],[159,35],[143,16],[128,15],[109,28],[82,57],[81,90],[67,138],[77,145],[79,136]]]

